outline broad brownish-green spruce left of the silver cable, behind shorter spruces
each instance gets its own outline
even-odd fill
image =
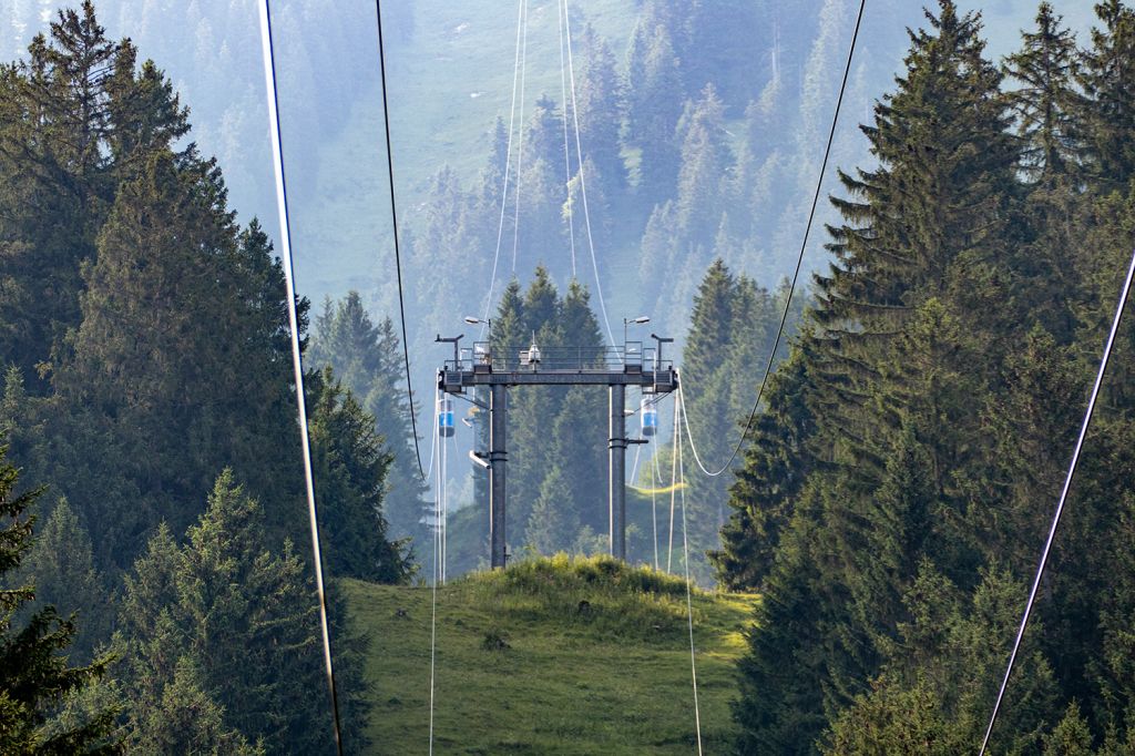
[[[193,492],[227,462],[253,468],[268,495],[295,485],[294,447],[262,443],[294,437],[283,271],[255,222],[237,235],[219,176],[180,162],[154,153],[123,184],[98,260],[84,268],[83,324],[54,378],[60,430],[101,438],[120,467],[96,477],[133,482],[145,503],[117,518],[106,509],[115,499],[85,494],[76,470],[52,469],[100,545],[136,538],[158,519],[184,528]],[[222,329],[205,314],[218,312]],[[279,535],[291,528],[281,514],[271,523]],[[121,565],[132,551],[100,556]]]

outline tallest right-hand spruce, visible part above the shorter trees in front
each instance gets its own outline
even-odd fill
[[[852,199],[834,200],[847,224],[832,229],[830,275],[816,277],[816,318],[841,415],[836,408],[857,406],[873,379],[867,353],[880,353],[918,302],[947,288],[948,271],[961,311],[994,314],[986,260],[1000,250],[1015,159],[1001,76],[982,57],[980,16],[939,5],[938,16],[927,12],[930,30],[911,36],[898,91],[863,127],[882,165],[841,174]],[[840,425],[852,436],[865,430],[849,417]]]

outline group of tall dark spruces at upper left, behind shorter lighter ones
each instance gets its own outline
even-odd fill
[[[32,397],[18,422],[6,411],[14,453],[67,496],[111,576],[160,520],[192,522],[226,464],[299,501],[299,444],[263,443],[295,437],[283,269],[184,142],[170,82],[90,2],[0,81],[0,361]],[[269,513],[277,538],[294,522]]]

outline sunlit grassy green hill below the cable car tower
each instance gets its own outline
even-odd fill
[[[346,587],[371,636],[376,750],[426,753],[432,591]],[[733,663],[756,600],[693,596],[706,753],[724,753],[733,736]],[[608,558],[560,555],[449,582],[437,595],[436,750],[689,754],[688,638],[684,583]]]

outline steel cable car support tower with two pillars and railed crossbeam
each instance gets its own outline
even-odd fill
[[[627,437],[627,387],[662,395],[678,388],[672,361],[662,356],[673,342],[654,334],[654,346],[625,342],[622,346],[539,347],[501,346],[478,342],[460,346],[461,336],[438,342],[453,344],[453,359],[438,370],[437,386],[447,394],[464,394],[478,386],[489,389],[489,551],[493,568],[505,565],[507,503],[507,389],[515,386],[606,386],[609,395],[607,467],[608,523],[612,556],[627,558],[627,447],[646,443]]]

